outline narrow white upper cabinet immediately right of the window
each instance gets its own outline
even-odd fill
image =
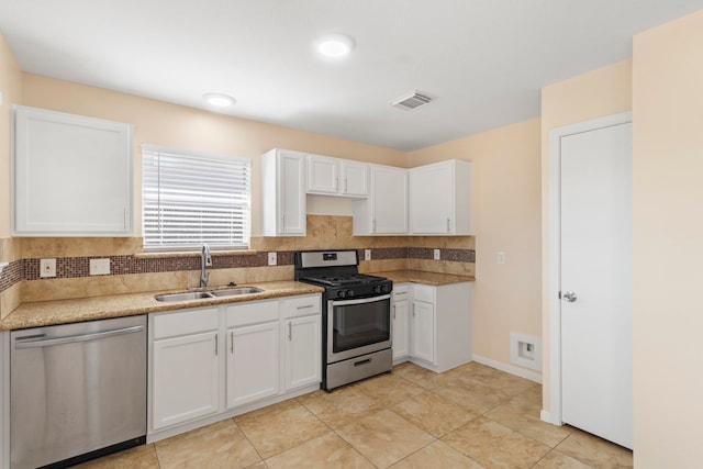
[[[272,149],[261,156],[261,231],[264,236],[304,236],[305,155]]]

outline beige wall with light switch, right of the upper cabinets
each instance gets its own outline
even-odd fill
[[[473,354],[510,365],[511,332],[542,335],[539,120],[410,153],[409,166],[449,158],[473,163]]]

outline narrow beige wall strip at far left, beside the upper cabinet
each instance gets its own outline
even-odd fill
[[[0,239],[10,236],[10,144],[12,104],[21,102],[22,71],[12,51],[0,33]],[[0,243],[0,260],[13,260],[5,257]]]

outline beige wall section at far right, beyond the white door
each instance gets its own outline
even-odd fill
[[[634,38],[635,467],[701,467],[703,11]]]

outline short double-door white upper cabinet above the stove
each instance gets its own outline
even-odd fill
[[[327,156],[308,156],[308,193],[367,197],[368,165]]]

